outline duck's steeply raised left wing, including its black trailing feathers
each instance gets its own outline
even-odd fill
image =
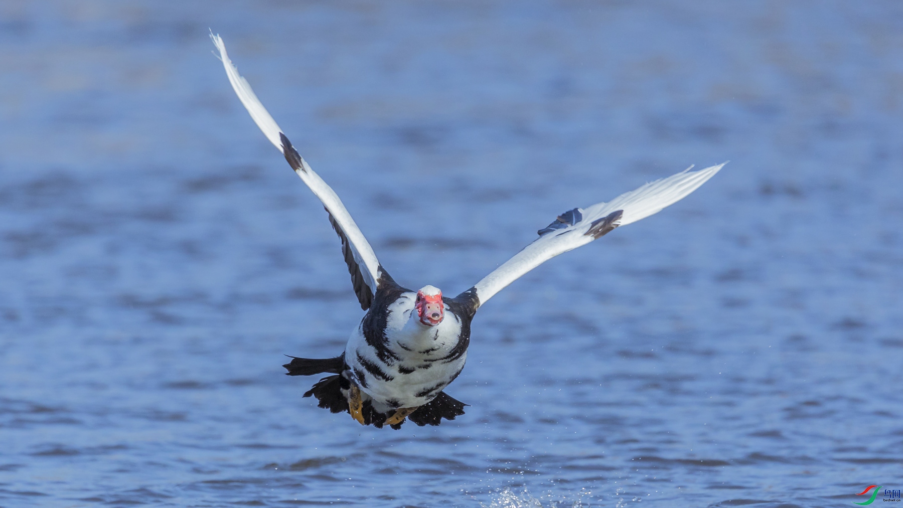
[[[380,278],[385,273],[377,260],[377,254],[374,254],[367,238],[360,232],[358,225],[354,223],[354,219],[345,209],[345,205],[342,205],[339,196],[320,178],[320,175],[313,172],[311,166],[298,154],[279,125],[276,125],[273,116],[270,116],[264,105],[260,104],[260,100],[254,95],[254,90],[247,84],[247,80],[238,74],[238,69],[231,60],[228,60],[226,44],[223,40],[219,35],[213,33],[210,33],[210,39],[219,50],[219,60],[222,60],[229,83],[232,84],[241,104],[245,105],[247,112],[264,132],[266,139],[270,140],[270,143],[273,143],[280,152],[283,152],[285,160],[292,166],[294,172],[311,188],[330,214],[330,224],[341,238],[342,254],[345,256],[345,263],[348,263],[351,283],[354,284],[354,292],[358,295],[360,308],[369,309]]]

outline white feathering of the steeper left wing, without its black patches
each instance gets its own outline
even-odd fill
[[[251,86],[247,83],[247,79],[242,78],[238,74],[238,69],[236,69],[235,65],[232,64],[232,61],[228,59],[226,44],[223,42],[222,38],[220,38],[219,35],[210,33],[210,39],[213,40],[213,43],[216,44],[217,49],[219,50],[219,60],[222,60],[223,68],[226,69],[229,83],[232,84],[232,88],[241,100],[241,104],[245,106],[247,112],[251,115],[251,118],[253,118],[256,125],[260,127],[260,130],[264,132],[266,139],[270,140],[270,143],[273,143],[280,152],[284,152],[280,135],[284,135],[282,129],[276,124],[273,116],[266,111],[264,105],[260,103],[260,100],[254,94],[254,90],[252,90]],[[363,268],[360,270],[361,275],[363,275],[365,282],[367,282],[370,287],[370,291],[376,291],[377,282],[379,280],[379,260],[377,260],[377,254],[373,252],[373,248],[368,243],[367,238],[360,232],[360,228],[355,224],[354,219],[351,218],[351,215],[348,213],[348,209],[342,204],[341,199],[339,199],[339,196],[336,195],[335,191],[320,178],[320,175],[311,169],[303,158],[301,158],[301,163],[303,164],[303,169],[295,170],[295,173],[297,173],[298,176],[301,177],[301,180],[311,188],[313,194],[322,201],[323,206],[340,226],[342,232],[348,238],[355,262],[358,263],[358,267]]]

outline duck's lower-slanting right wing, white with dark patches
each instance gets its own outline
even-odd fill
[[[465,293],[470,299],[476,297],[477,304],[482,305],[521,275],[554,256],[589,244],[615,227],[637,222],[684,199],[706,180],[712,178],[723,165],[724,163],[721,163],[700,171],[690,171],[693,168],[691,166],[686,171],[621,194],[608,203],[568,210],[558,216],[552,224],[540,229],[539,238],[532,244],[524,247]]]

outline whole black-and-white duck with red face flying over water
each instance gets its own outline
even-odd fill
[[[419,291],[395,282],[342,205],[336,193],[295,151],[279,125],[228,59],[219,35],[210,34],[219,50],[229,82],[267,139],[326,208],[341,239],[342,254],[361,309],[367,310],[337,357],[293,357],[284,365],[290,375],[332,374],[315,383],[304,396],[315,396],[321,408],[349,411],[361,424],[401,427],[405,419],[417,425],[438,425],[464,413],[465,404],[443,390],[461,374],[470,344],[470,321],[479,306],[536,266],[581,245],[656,214],[684,199],[721,170],[677,173],[621,194],[607,203],[573,208],[538,231],[539,237],[469,290],[454,298],[433,286]],[[692,169],[692,168],[691,168]]]

